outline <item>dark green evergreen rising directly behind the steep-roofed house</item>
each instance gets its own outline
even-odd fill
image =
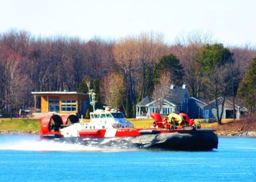
[[[157,79],[157,77],[159,78],[159,75],[162,75],[164,72],[170,73],[170,79],[172,80],[173,84],[178,86],[182,84],[184,70],[179,59],[177,59],[174,54],[167,54],[161,57],[156,66],[155,79]]]

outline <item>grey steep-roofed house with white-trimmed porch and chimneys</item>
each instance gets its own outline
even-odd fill
[[[182,86],[171,85],[164,98],[158,98],[156,100],[150,96],[143,98],[136,105],[136,118],[149,118],[152,112],[158,112],[160,99],[160,114],[170,114],[173,111],[189,113],[189,93],[186,84]]]

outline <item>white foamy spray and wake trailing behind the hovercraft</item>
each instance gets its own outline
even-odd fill
[[[38,135],[0,135],[0,150],[16,151],[83,151],[83,152],[126,152],[139,151],[141,149],[129,146],[127,142],[109,139],[103,143],[95,140],[70,144],[53,140],[40,140]]]

